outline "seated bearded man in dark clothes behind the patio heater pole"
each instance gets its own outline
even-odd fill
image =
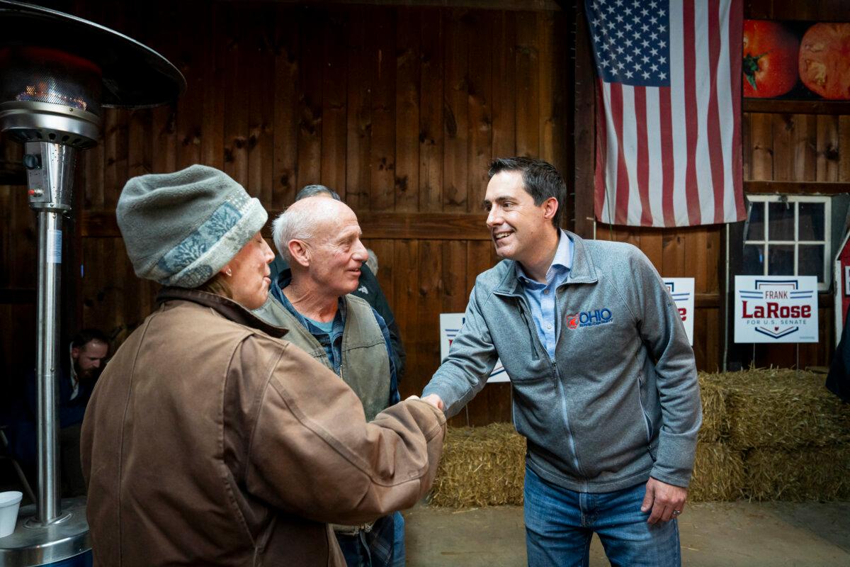
[[[80,463],[80,427],[94,384],[109,354],[109,338],[98,329],[83,329],[71,339],[65,364],[57,372],[56,397],[59,403],[59,459],[62,496],[82,496],[86,484]],[[13,444],[26,468],[34,468],[37,458],[38,383],[32,371],[26,380],[27,415],[16,424]]]

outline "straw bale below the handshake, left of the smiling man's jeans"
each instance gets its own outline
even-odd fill
[[[512,423],[449,428],[431,489],[434,506],[523,503],[525,438]]]

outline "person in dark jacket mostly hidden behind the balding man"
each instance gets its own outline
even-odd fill
[[[342,201],[337,191],[332,190],[325,185],[305,185],[302,190],[298,191],[295,196],[295,201],[300,201],[307,197],[320,196],[329,197],[336,201]],[[368,251],[368,249],[367,249]],[[372,268],[370,261],[375,266]],[[275,257],[275,261],[271,263],[271,278],[277,279],[277,275],[285,269],[289,268],[289,263],[286,262],[280,255]],[[383,294],[380,284],[377,282],[377,258],[370,255],[370,259],[365,261],[365,264],[360,268],[360,281],[357,282],[357,287],[352,295],[363,298],[372,306],[372,309],[377,311],[378,315],[383,317],[383,321],[389,329],[389,339],[393,343],[393,361],[395,363],[395,375],[399,382],[405,376],[405,347],[401,343],[401,333],[399,325],[395,322],[393,310],[389,308],[387,297]],[[269,302],[271,301],[269,294]],[[269,303],[263,306],[263,309],[269,309]],[[259,312],[262,315],[262,311]]]

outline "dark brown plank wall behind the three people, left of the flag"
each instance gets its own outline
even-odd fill
[[[495,262],[480,205],[490,160],[541,156],[570,171],[570,34],[557,11],[164,0],[67,10],[155,48],[189,83],[175,105],[106,111],[80,163],[77,316],[118,342],[156,293],[127,261],[119,192],[133,175],[201,162],[272,211],[304,184],[343,196],[399,320],[402,395],[418,394],[439,366],[439,312],[462,311]],[[2,250],[4,265],[20,265]],[[468,418],[509,420],[509,387],[486,388]]]

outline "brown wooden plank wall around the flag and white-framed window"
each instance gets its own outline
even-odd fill
[[[850,20],[850,4],[843,0],[799,3],[792,0],[747,0],[745,18],[776,20]],[[575,16],[575,226],[592,236],[592,157],[595,144],[592,54],[587,24],[581,11]],[[846,105],[774,105],[776,111],[746,111],[742,117],[742,154],[745,191],[824,192],[850,187],[850,116]],[[788,109],[792,109],[789,111]],[[814,112],[819,112],[815,114]],[[757,183],[763,182],[763,183]],[[805,183],[802,183],[805,182]],[[638,229],[598,224],[597,237],[626,241],[640,247],[667,277],[693,276],[696,286],[694,354],[697,366],[714,371],[723,365],[726,328],[725,225],[687,229]],[[730,246],[740,246],[730,241]],[[733,274],[734,275],[734,274]],[[750,344],[736,347],[729,327],[731,365],[824,366],[832,355],[832,298],[819,297],[820,342],[790,345]]]

